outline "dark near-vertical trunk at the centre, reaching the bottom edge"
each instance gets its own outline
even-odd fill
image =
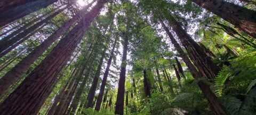
[[[128,35],[124,33],[124,47],[123,47],[123,56],[121,64],[121,72],[118,82],[118,92],[116,97],[116,107],[115,114],[124,114],[124,90],[125,90],[125,74],[126,74],[126,58],[128,50],[129,38]]]

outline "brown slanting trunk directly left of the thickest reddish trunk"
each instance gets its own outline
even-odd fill
[[[83,10],[87,10],[91,4],[85,6]],[[24,59],[22,59],[15,67],[13,67],[9,72],[7,72],[1,79],[0,79],[0,96],[4,94],[6,89],[10,87],[17,79],[21,77],[23,73],[27,71],[31,64],[33,64],[39,56],[41,56],[51,44],[57,40],[63,32],[67,31],[74,22],[78,20],[78,13],[70,19],[69,21],[65,22],[61,28],[55,31],[51,36],[49,36],[42,44],[37,46],[32,52],[30,52]]]

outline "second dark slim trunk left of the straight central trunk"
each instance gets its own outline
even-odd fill
[[[102,64],[103,64],[103,60],[105,58],[106,50],[107,50],[107,48],[105,48],[103,50],[102,54],[101,54],[101,59],[100,59],[97,71],[95,73],[95,76],[93,78],[92,86],[91,86],[90,91],[87,95],[87,104],[86,104],[85,108],[92,108],[93,107],[93,97],[95,95],[95,91],[96,91],[96,88],[97,88],[97,85],[98,85],[98,81],[99,81],[99,77],[100,77],[100,71],[101,71],[101,67],[102,67]]]

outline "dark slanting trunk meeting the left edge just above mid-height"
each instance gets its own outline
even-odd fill
[[[57,12],[54,12],[53,14],[49,15],[44,20],[37,22],[36,24],[34,24],[33,26],[29,27],[28,29],[22,31],[20,34],[18,34],[17,36],[11,38],[10,40],[1,41],[1,43],[0,43],[0,52],[2,53],[8,47],[10,47],[11,45],[17,43],[19,40],[21,40],[22,38],[26,37],[28,34],[30,34],[32,31],[34,31],[38,27],[41,27],[44,23],[50,21],[52,18],[54,18],[56,15],[58,15],[63,10],[66,10],[67,8],[68,8],[68,6],[63,7],[62,9],[60,9]]]

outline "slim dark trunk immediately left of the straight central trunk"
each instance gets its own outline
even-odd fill
[[[110,52],[110,56],[109,56],[109,59],[108,59],[108,62],[107,62],[107,67],[106,67],[105,73],[104,73],[103,78],[102,78],[102,82],[101,82],[101,86],[100,86],[100,92],[99,92],[97,102],[96,102],[96,105],[95,105],[95,110],[96,111],[100,110],[100,104],[101,104],[102,97],[103,97],[103,92],[105,90],[105,86],[106,86],[106,83],[107,83],[108,73],[109,73],[109,70],[110,70],[109,68],[110,68],[110,65],[111,65],[111,62],[112,62],[112,59],[113,59],[113,56],[114,56],[116,43],[117,43],[117,39],[115,39],[113,48]]]

